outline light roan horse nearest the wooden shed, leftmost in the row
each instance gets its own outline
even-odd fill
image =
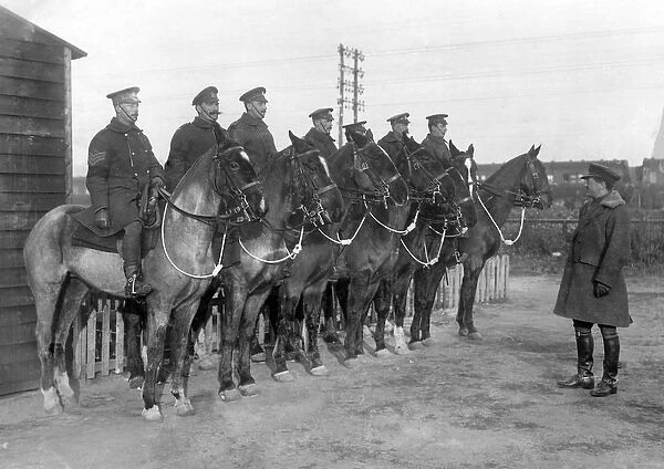
[[[248,190],[251,189],[251,190]],[[170,205],[177,207],[173,209]],[[245,150],[230,140],[203,155],[177,186],[164,210],[159,242],[143,260],[143,271],[154,291],[147,303],[147,369],[143,386],[143,416],[162,417],[157,373],[166,329],[186,333],[212,270],[210,241],[218,213],[236,213],[238,207],[264,212],[264,199]],[[34,226],[23,249],[28,280],[34,294],[38,351],[42,365],[44,409],[59,413],[77,399],[73,354],[65,353],[70,326],[81,300],[91,288],[124,296],[122,260],[116,253],[72,246],[77,222],[71,217],[83,207],[65,205],[48,212]],[[242,209],[243,210],[243,209]],[[72,347],[77,337],[73,337]],[[183,344],[181,338],[178,341]],[[184,346],[172,350],[174,379],[170,385],[178,415],[193,413],[181,379]]]

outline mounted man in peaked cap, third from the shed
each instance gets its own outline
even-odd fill
[[[228,126],[228,135],[245,147],[251,158],[256,173],[260,174],[268,160],[277,154],[274,138],[263,122],[268,111],[266,88],[249,90],[240,96],[245,103],[245,113]]]

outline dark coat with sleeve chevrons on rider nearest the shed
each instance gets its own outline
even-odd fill
[[[113,117],[90,143],[85,185],[94,211],[108,209],[110,232],[138,220],[141,191],[155,177],[163,179],[164,169],[134,123]]]

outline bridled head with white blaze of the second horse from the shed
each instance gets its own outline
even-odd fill
[[[289,225],[308,228],[335,223],[344,216],[341,191],[330,177],[328,164],[310,143],[289,131],[292,146],[291,217]]]

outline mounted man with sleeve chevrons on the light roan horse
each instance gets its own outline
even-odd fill
[[[125,294],[142,296],[153,286],[141,272],[138,200],[146,185],[164,186],[164,170],[147,137],[138,127],[137,86],[116,91],[106,97],[113,102],[115,117],[100,131],[87,153],[85,185],[94,210],[94,223],[113,234],[124,229],[122,258],[127,278]]]

